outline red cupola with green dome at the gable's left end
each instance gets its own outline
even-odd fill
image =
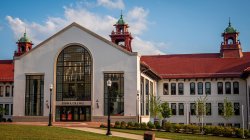
[[[17,42],[17,51],[14,53],[14,57],[20,56],[32,49],[32,41],[27,37],[26,31]]]

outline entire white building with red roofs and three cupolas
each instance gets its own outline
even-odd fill
[[[122,15],[114,26],[109,41],[72,23],[34,48],[25,33],[17,42],[14,65],[7,64],[15,68],[8,70],[8,84],[15,85],[13,120],[48,121],[53,84],[53,121],[106,121],[111,93],[112,122],[149,121],[153,94],[170,103],[173,123],[200,123],[195,101],[204,97],[205,124],[242,127],[242,116],[249,123],[250,52],[242,52],[239,32],[230,22],[220,52],[210,54],[140,56],[132,51],[133,37]],[[226,98],[235,111],[229,120],[222,117]]]

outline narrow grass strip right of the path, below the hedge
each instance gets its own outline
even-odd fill
[[[129,129],[111,129],[111,131],[125,132],[131,134],[143,135],[144,130],[129,130]],[[194,135],[194,134],[182,134],[182,133],[170,133],[154,131],[157,138],[166,138],[173,140],[239,140],[239,138],[227,138],[207,135]]]

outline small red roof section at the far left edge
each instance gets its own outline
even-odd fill
[[[13,60],[0,60],[0,82],[14,81]]]

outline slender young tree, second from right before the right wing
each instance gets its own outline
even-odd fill
[[[206,110],[206,102],[207,102],[207,96],[205,96],[204,98],[199,97],[197,101],[195,102],[196,117],[199,118],[199,123],[201,122],[202,133],[203,133],[203,125],[204,125],[204,115],[208,111]]]

